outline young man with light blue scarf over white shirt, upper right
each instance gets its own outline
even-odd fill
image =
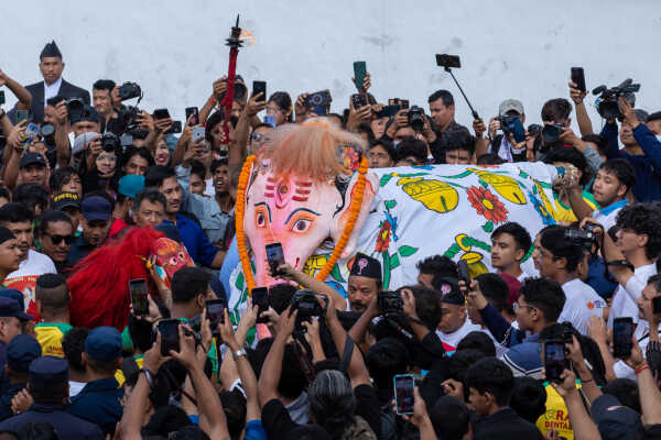
[[[583,188],[576,182],[571,183],[570,205],[578,220],[592,217],[608,232],[615,226],[619,210],[627,206],[627,195],[633,186],[636,186],[633,165],[624,158],[611,158],[599,166],[593,183],[592,191],[599,209],[593,210],[583,200]]]

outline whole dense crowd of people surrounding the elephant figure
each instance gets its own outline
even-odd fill
[[[508,98],[468,129],[447,90],[409,108],[370,95],[368,74],[354,80],[364,101],[332,113],[312,94],[251,94],[238,75],[177,122],[131,105],[136,84],[99,79],[90,96],[64,67],[52,42],[43,81],[0,70],[18,99],[0,109],[0,439],[661,439],[661,111],[635,95],[613,98],[600,133],[573,81],[539,117]],[[357,254],[347,298],[284,264],[268,309],[248,298],[240,319],[213,319],[206,301],[227,301],[238,264],[243,161],[317,118],[359,134],[372,168],[554,165],[557,224],[501,224],[492,273],[470,279],[435,255],[392,292]],[[75,327],[67,279],[142,228],[195,266],[169,286],[151,271],[148,314],[126,328]],[[254,340],[256,322],[269,338]]]

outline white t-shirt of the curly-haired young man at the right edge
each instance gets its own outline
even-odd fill
[[[613,328],[615,318],[632,318],[636,327],[636,338],[642,338],[647,331],[648,323],[638,318],[638,305],[636,299],[642,295],[642,289],[647,286],[647,280],[650,276],[657,273],[654,263],[647,266],[640,266],[633,271],[633,276],[629,278],[627,285],[617,286],[617,290],[613,295],[613,304],[610,305],[610,314],[608,314],[608,328]]]

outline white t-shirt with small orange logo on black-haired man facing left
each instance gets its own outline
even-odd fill
[[[587,320],[590,316],[600,317],[606,301],[579,278],[563,284],[562,289],[566,299],[557,322],[568,321],[581,334],[588,334]]]

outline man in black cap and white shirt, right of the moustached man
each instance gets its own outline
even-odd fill
[[[484,331],[481,326],[470,322],[466,314],[466,298],[456,278],[435,278],[434,288],[441,293],[441,322],[436,334],[453,350],[472,331]],[[446,348],[447,350],[447,348]]]

